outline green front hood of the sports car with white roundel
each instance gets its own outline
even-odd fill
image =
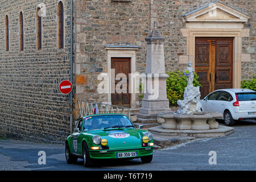
[[[138,129],[94,130],[92,134],[108,140],[110,150],[142,147],[143,133]]]

